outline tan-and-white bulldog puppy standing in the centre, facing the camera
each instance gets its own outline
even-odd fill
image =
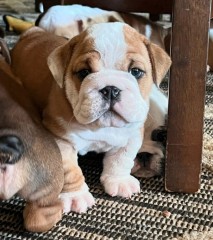
[[[164,50],[127,24],[94,24],[66,40],[31,28],[12,67],[55,135],[64,167],[64,211],[94,204],[77,154],[105,152],[101,183],[111,196],[140,191],[130,175],[143,141],[150,92],[170,67]]]

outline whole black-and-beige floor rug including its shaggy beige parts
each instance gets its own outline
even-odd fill
[[[34,2],[0,0],[0,17],[15,14],[32,20]],[[2,19],[0,26],[4,27]],[[18,35],[6,32],[10,47]],[[166,88],[166,84],[163,86]],[[42,234],[23,228],[24,200],[14,197],[0,202],[0,239],[26,240],[210,240],[213,239],[213,74],[206,82],[206,106],[203,140],[203,167],[198,193],[167,193],[163,177],[140,179],[141,193],[131,199],[110,197],[99,181],[101,158],[88,156],[80,160],[96,206],[85,214],[64,214],[50,231]],[[192,166],[193,167],[193,166]]]

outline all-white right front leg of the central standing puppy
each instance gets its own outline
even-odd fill
[[[130,172],[141,142],[141,134],[137,133],[126,147],[106,153],[101,182],[109,195],[129,198],[140,192],[140,183]]]

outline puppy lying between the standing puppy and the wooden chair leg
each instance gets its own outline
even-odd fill
[[[168,97],[153,85],[149,112],[144,125],[143,143],[131,170],[134,176],[148,178],[164,174],[167,113]]]

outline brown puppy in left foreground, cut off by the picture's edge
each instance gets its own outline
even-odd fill
[[[47,231],[62,217],[60,151],[2,56],[0,109],[0,199],[25,198],[25,228]]]

